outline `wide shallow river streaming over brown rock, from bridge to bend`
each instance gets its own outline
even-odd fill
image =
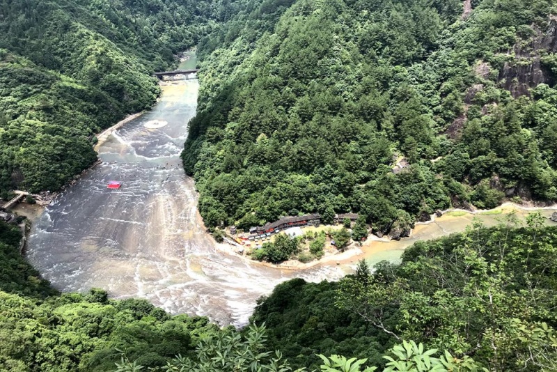
[[[179,158],[197,92],[196,80],[165,86],[152,111],[100,146],[102,164],[34,224],[29,260],[56,288],[104,288],[112,297],[144,297],[171,313],[244,325],[258,297],[295,275],[222,254],[205,233],[194,182]],[[145,127],[152,121],[168,124]],[[107,189],[110,180],[123,187]],[[343,271],[296,274],[320,281]]]

